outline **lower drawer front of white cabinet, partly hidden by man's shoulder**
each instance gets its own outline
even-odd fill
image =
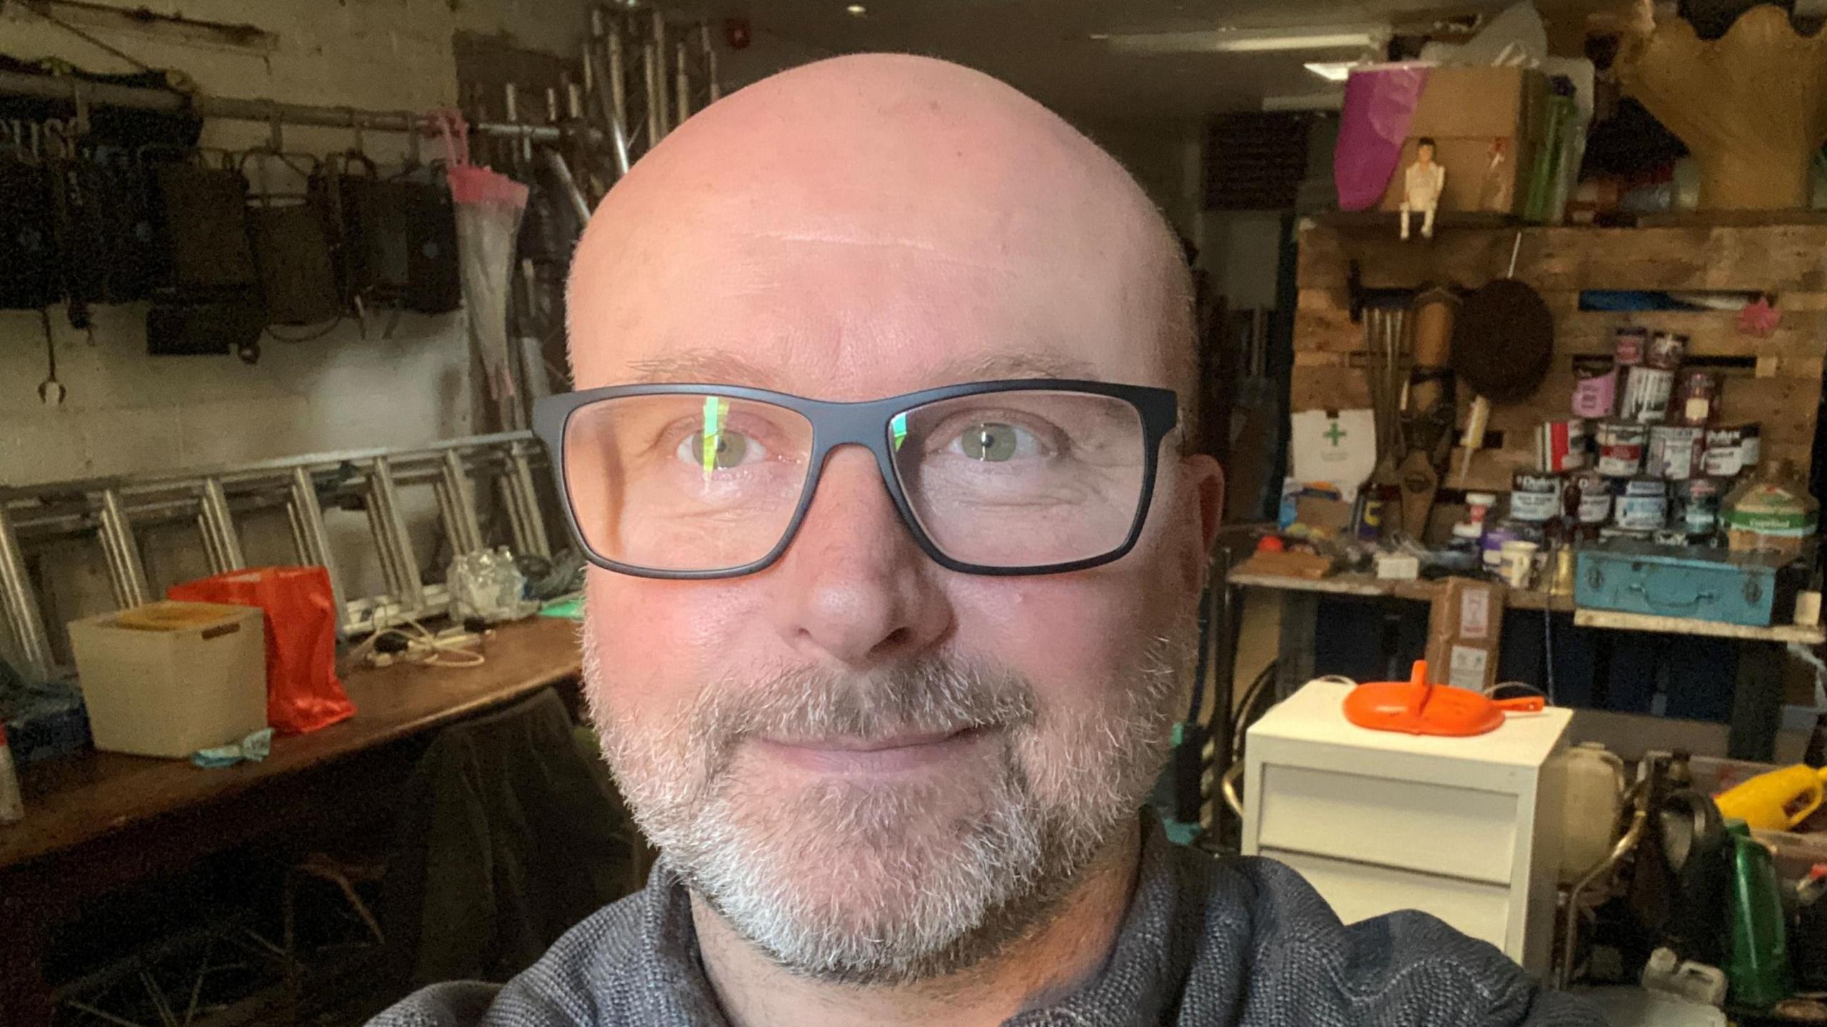
[[[1504,948],[1511,959],[1522,959],[1522,952],[1511,952],[1507,947],[1509,888],[1268,846],[1262,846],[1261,855],[1286,863],[1301,877],[1306,877],[1306,883],[1332,905],[1332,912],[1339,914],[1345,923],[1396,910],[1421,910],[1480,941]]]

